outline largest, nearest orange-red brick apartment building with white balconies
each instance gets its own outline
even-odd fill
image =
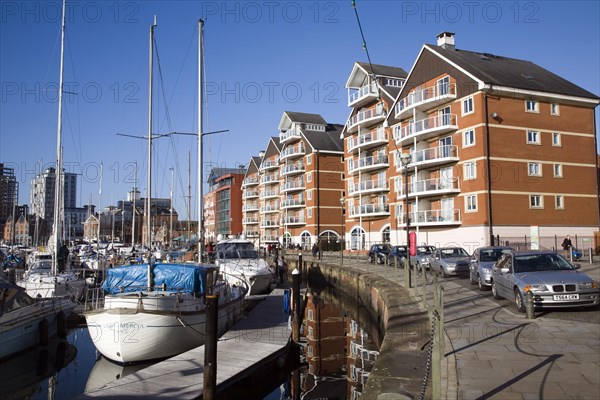
[[[356,63],[347,87],[353,249],[361,236],[404,243],[407,211],[417,243],[469,251],[598,230],[597,95],[529,61],[456,49],[449,32],[408,74]]]

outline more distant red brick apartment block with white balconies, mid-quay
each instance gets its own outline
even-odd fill
[[[258,244],[339,246],[342,128],[320,115],[283,113],[279,137],[252,157],[242,185],[244,231],[258,232]]]

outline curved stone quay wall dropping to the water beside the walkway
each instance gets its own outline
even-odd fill
[[[293,269],[298,262],[290,260],[289,264]],[[302,264],[303,279],[308,279],[312,291],[334,290],[356,299],[357,309],[366,312],[369,320],[359,320],[361,326],[365,322],[377,325],[373,334],[379,334],[374,339],[380,344],[380,354],[361,399],[419,398],[427,371],[431,322],[410,291],[378,274],[350,266]],[[431,398],[430,381],[423,398]]]

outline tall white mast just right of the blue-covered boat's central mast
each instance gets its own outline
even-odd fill
[[[204,251],[204,188],[202,177],[202,102],[204,67],[204,20],[198,20],[198,262],[202,262]]]

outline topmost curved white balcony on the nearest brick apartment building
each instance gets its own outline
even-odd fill
[[[415,90],[396,104],[395,116],[398,119],[404,119],[412,115],[413,109],[427,111],[454,99],[456,99],[454,83],[444,83]]]

